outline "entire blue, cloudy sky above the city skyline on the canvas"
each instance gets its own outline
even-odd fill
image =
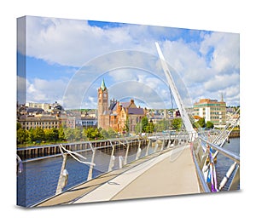
[[[17,47],[19,103],[96,108],[104,79],[109,100],[173,108],[157,42],[185,106],[221,95],[227,106],[240,105],[237,33],[27,16],[24,34]]]

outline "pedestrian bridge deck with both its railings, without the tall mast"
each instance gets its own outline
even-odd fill
[[[178,135],[181,137],[180,139]],[[231,180],[229,189],[234,190],[240,179],[240,157],[213,144],[218,135],[219,132],[207,131],[204,134],[199,134],[194,141],[191,141],[190,134],[184,132],[174,135],[176,139],[173,139],[173,135],[169,135],[169,138],[166,134],[151,135],[148,137],[148,145],[143,156],[139,146],[137,147],[137,156],[131,163],[125,163],[125,157],[110,155],[108,172],[95,179],[91,177],[93,169],[96,168],[93,163],[95,157],[92,156],[90,161],[84,162],[84,164],[90,165],[88,179],[84,179],[84,183],[69,189],[65,189],[67,156],[76,156],[78,162],[81,160],[81,156],[78,156],[78,152],[68,151],[64,146],[61,146],[63,163],[55,196],[33,206],[43,207],[218,192],[222,190],[228,180]],[[147,152],[149,147],[153,149],[152,153]],[[91,148],[94,152],[98,149],[101,148]],[[114,151],[114,146],[112,149]],[[212,152],[212,149],[215,153]],[[129,144],[126,145],[126,150],[129,150]],[[216,152],[222,152],[234,161],[221,182],[216,181],[216,175],[214,176],[213,171],[212,157]],[[116,158],[119,162],[119,168],[113,169],[113,162],[116,161]],[[229,179],[231,174],[234,177]],[[207,181],[208,178],[210,181]]]

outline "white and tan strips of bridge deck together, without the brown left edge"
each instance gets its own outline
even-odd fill
[[[166,152],[120,174],[76,203],[199,193],[189,146]]]

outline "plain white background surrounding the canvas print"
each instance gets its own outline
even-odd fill
[[[253,1],[247,2],[249,1],[2,1],[1,222],[241,222],[255,219],[253,65],[256,38],[253,20],[256,18]],[[44,209],[16,207],[16,18],[23,15],[241,33],[241,191]]]

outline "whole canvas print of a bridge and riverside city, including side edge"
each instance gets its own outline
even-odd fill
[[[239,33],[17,19],[17,205],[240,189]]]

